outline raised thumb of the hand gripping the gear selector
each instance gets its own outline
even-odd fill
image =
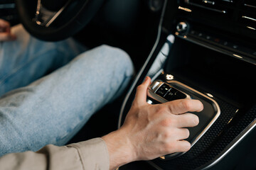
[[[151,84],[150,77],[146,77],[144,82],[137,87],[134,104],[142,105],[146,103],[146,92],[150,84]]]

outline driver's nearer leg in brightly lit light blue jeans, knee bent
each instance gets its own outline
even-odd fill
[[[5,94],[0,98],[0,155],[65,145],[93,113],[123,91],[132,74],[125,52],[101,46]]]

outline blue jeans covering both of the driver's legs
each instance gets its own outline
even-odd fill
[[[43,42],[22,26],[12,31],[16,41],[0,42],[0,156],[65,145],[134,72],[117,48],[85,52],[73,39]]]

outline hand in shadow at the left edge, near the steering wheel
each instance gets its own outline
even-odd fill
[[[11,34],[10,23],[0,19],[0,41],[16,40],[16,36]]]

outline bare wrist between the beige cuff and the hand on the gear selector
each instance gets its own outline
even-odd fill
[[[127,137],[124,130],[119,129],[102,137],[107,144],[110,156],[110,169],[116,169],[119,166],[134,162],[137,159],[134,146]]]

